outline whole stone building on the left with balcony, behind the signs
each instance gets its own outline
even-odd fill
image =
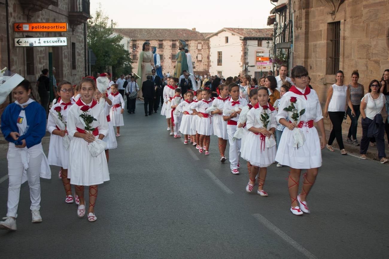
[[[24,37],[67,37],[68,45],[53,47],[53,67],[56,68],[56,81],[67,80],[78,83],[88,72],[87,27],[89,0],[9,0],[7,24],[5,5],[0,5],[0,67],[9,67],[32,82],[39,77],[41,70],[49,67],[49,47],[15,47],[14,38]],[[67,23],[67,32],[14,32],[14,23]],[[7,26],[9,36],[7,36]],[[8,46],[9,42],[9,53]],[[35,92],[35,91],[34,91]],[[37,92],[35,97],[39,99]],[[7,102],[0,106],[0,113]]]

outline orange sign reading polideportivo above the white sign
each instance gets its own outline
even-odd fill
[[[67,30],[67,23],[14,23],[14,31],[16,32],[61,32]]]

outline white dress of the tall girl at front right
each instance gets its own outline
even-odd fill
[[[297,90],[302,93],[304,93],[306,89],[307,87],[305,87],[304,90],[297,88]],[[318,122],[323,118],[319,97],[317,97],[315,90],[310,89],[310,93],[306,96],[307,99],[294,92],[286,92],[284,96],[282,96],[281,104],[278,108],[277,122],[279,122],[281,118],[286,119],[288,116],[288,113],[287,111],[284,111],[284,108],[289,107],[291,97],[297,98],[297,104],[300,111],[305,109],[305,113],[301,115],[300,118],[303,122],[308,122],[310,120]],[[316,128],[303,127],[299,130],[301,130],[305,136],[305,143],[303,146],[300,146],[299,148],[293,147],[293,131],[286,127],[280,139],[275,161],[279,162],[281,165],[287,165],[294,169],[321,167],[320,140]]]

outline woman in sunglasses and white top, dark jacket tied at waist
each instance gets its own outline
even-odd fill
[[[360,158],[366,159],[366,151],[369,147],[368,133],[372,123],[378,124],[378,136],[375,136],[377,142],[378,158],[380,163],[387,163],[385,154],[385,140],[384,132],[385,125],[383,120],[387,120],[387,113],[385,109],[386,99],[384,94],[380,94],[380,82],[373,80],[369,84],[369,92],[363,97],[361,101],[361,115],[362,115],[362,139],[361,139],[361,156]],[[378,116],[379,115],[379,116]]]

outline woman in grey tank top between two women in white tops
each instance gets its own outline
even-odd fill
[[[349,128],[349,134],[347,135],[347,143],[353,144],[354,146],[359,146],[357,140],[357,127],[358,127],[358,119],[361,112],[359,111],[359,106],[361,104],[361,99],[364,94],[364,87],[360,83],[358,83],[359,73],[358,70],[352,71],[351,74],[351,83],[347,86],[347,91],[350,92],[350,99],[352,103],[352,107],[355,111],[355,116],[351,115],[351,109],[347,107],[347,115],[349,115],[351,119],[351,124]],[[351,140],[351,136],[352,139]]]

